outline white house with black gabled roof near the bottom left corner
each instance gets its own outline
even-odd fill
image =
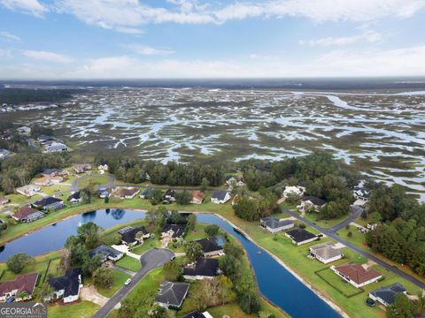
[[[55,292],[44,300],[62,299],[64,304],[78,300],[81,282],[81,269],[67,269],[64,276],[50,278],[47,281]]]

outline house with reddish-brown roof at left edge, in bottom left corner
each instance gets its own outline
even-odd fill
[[[0,301],[5,301],[9,297],[15,297],[15,301],[31,299],[35,290],[38,273],[17,276],[14,280],[0,283]],[[21,294],[27,297],[19,299]]]

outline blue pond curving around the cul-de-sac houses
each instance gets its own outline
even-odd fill
[[[76,234],[78,226],[82,223],[94,222],[106,229],[143,217],[144,212],[127,209],[99,209],[73,216],[7,243],[0,251],[0,261],[6,261],[10,255],[17,253],[36,256],[56,251],[64,246],[69,236]],[[311,317],[312,313],[316,318],[339,317],[326,302],[283,268],[265,250],[235,231],[230,223],[213,214],[198,214],[197,220],[200,223],[219,225],[223,231],[242,243],[251,260],[260,292],[276,306],[293,317]],[[259,251],[261,253],[258,253]]]

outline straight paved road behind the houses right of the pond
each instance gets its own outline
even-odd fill
[[[310,222],[308,220],[305,220],[305,218],[302,217],[302,216],[299,216],[297,212],[292,212],[289,209],[282,208],[282,207],[281,207],[281,209],[282,209],[283,212],[285,212],[285,213],[289,214],[290,216],[293,216],[296,219],[298,219],[298,221],[300,221],[302,223],[305,223],[306,225],[313,227],[313,229],[315,229],[317,231],[320,231],[321,233],[325,234],[330,239],[335,239],[337,242],[344,244],[344,246],[347,246],[352,251],[357,252],[357,253],[359,253],[359,254],[367,257],[371,261],[375,261],[375,263],[381,265],[384,269],[387,269],[387,270],[393,272],[394,274],[405,278],[407,281],[409,281],[409,282],[417,285],[418,287],[421,287],[422,289],[425,289],[425,284],[422,283],[420,280],[414,278],[413,276],[410,276],[410,275],[406,274],[405,272],[401,271],[400,269],[398,269],[395,266],[391,266],[390,264],[386,263],[385,261],[382,261],[381,259],[377,258],[375,255],[369,254],[369,253],[363,251],[358,246],[354,246],[354,245],[352,245],[352,243],[347,242],[344,239],[341,239],[336,234],[336,232],[332,230],[333,228],[330,228],[330,229],[322,228],[319,225],[313,224],[312,222]]]

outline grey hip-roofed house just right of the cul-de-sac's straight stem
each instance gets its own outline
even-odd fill
[[[165,281],[159,285],[155,303],[161,307],[182,307],[183,300],[189,292],[190,284]]]

